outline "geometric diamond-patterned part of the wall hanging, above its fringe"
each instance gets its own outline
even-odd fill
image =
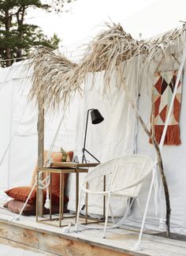
[[[173,89],[177,81],[177,70],[155,73],[156,82],[153,90],[154,125],[164,125],[173,96]],[[180,119],[182,83],[179,81],[177,94],[173,102],[173,110],[169,125],[178,125]]]

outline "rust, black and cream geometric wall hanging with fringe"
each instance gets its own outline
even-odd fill
[[[162,137],[162,131],[165,126],[166,117],[173,96],[173,88],[177,81],[177,70],[163,71],[154,74],[156,82],[153,89],[154,98],[154,132],[157,142]],[[166,131],[164,145],[180,145],[180,103],[182,77],[179,81],[177,94],[173,102],[173,109],[169,119],[169,125]]]

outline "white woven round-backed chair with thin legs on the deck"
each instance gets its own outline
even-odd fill
[[[117,228],[124,223],[128,216],[128,211],[132,206],[132,202],[138,197],[139,190],[143,184],[144,179],[149,175],[153,168],[153,161],[148,156],[143,155],[126,155],[120,158],[109,160],[104,164],[99,164],[97,167],[92,169],[84,178],[83,185],[80,189],[80,200],[78,204],[76,227],[75,231],[79,231],[79,218],[80,218],[80,205],[82,200],[82,193],[87,194],[100,194],[106,197],[106,216],[103,238],[106,236],[107,220],[110,215],[112,216],[113,225],[108,228]],[[103,176],[106,176],[106,190],[100,191],[91,188],[91,183],[100,183],[103,180]],[[88,184],[88,188],[87,188]],[[115,224],[113,219],[113,213],[110,205],[110,197],[119,196],[131,198],[128,200],[128,207],[125,212],[125,216]],[[87,226],[87,225],[86,225]],[[92,228],[88,225],[87,228]],[[99,225],[93,228],[99,228]],[[84,226],[85,227],[85,226]]]

